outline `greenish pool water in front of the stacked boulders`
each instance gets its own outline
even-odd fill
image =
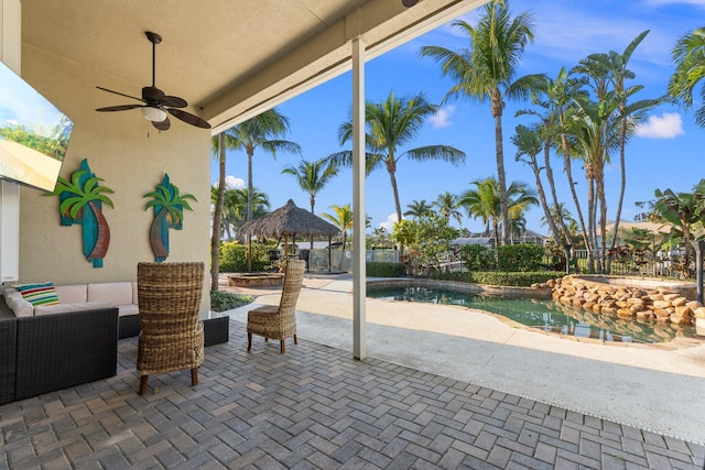
[[[386,300],[459,305],[501,315],[546,332],[616,342],[666,342],[676,337],[696,337],[695,327],[652,320],[618,318],[553,300],[508,298],[426,287],[368,289],[367,296]]]

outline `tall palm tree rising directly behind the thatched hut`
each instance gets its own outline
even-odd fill
[[[280,113],[275,108],[262,112],[254,118],[228,129],[232,136],[235,150],[245,150],[247,153],[247,220],[252,220],[252,206],[254,199],[254,186],[252,185],[252,156],[257,147],[276,157],[278,151],[301,153],[297,143],[283,140],[289,132],[289,118]]]

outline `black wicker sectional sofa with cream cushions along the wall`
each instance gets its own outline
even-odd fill
[[[118,339],[141,330],[137,282],[54,286],[36,305],[14,287],[0,300],[0,404],[113,376]],[[228,341],[229,317],[204,320],[205,346]]]

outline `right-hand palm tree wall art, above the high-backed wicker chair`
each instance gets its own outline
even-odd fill
[[[144,209],[152,208],[154,220],[150,227],[150,244],[154,253],[154,261],[161,263],[169,256],[169,229],[181,230],[184,220],[184,209],[193,210],[188,199],[196,201],[192,194],[180,194],[176,186],[170,183],[169,175],[156,186],[156,190],[148,193],[144,197],[151,197]]]

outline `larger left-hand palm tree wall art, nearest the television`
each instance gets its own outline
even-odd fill
[[[47,193],[58,196],[62,226],[82,226],[84,255],[94,267],[102,267],[102,259],[110,245],[110,228],[102,215],[102,204],[113,207],[112,200],[106,196],[113,190],[100,186],[102,181],[90,172],[88,161],[84,159],[79,168],[72,173],[70,181],[59,176],[54,192]]]

